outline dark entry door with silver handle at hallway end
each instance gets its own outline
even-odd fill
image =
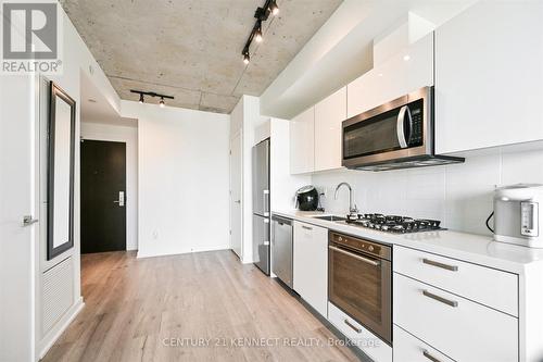
[[[81,253],[126,250],[126,143],[81,141]]]

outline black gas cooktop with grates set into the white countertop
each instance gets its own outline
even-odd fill
[[[442,230],[438,220],[413,219],[407,216],[383,214],[348,215],[345,223],[381,232],[405,234],[429,230]]]

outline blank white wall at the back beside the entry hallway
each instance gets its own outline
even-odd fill
[[[229,248],[230,116],[122,101],[138,118],[138,258]]]

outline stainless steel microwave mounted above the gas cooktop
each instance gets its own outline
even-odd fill
[[[464,162],[434,154],[433,87],[425,87],[343,122],[342,164],[387,171]]]

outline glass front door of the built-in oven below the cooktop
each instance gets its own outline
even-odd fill
[[[328,299],[392,346],[391,263],[328,247]]]

